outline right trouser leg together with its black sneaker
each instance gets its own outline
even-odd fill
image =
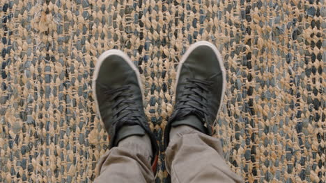
[[[226,88],[222,55],[196,42],[183,55],[176,77],[176,105],[164,131],[166,168],[173,183],[241,182],[226,165],[212,136]],[[171,140],[170,140],[171,139]]]

